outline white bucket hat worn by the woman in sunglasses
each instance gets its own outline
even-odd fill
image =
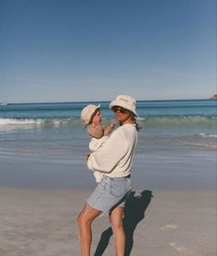
[[[131,96],[118,95],[116,99],[110,102],[109,108],[112,109],[114,106],[122,107],[138,116],[136,112],[136,100],[131,98]]]

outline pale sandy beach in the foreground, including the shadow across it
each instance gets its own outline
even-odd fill
[[[1,188],[1,256],[78,256],[76,215],[89,191]],[[127,255],[216,255],[216,193],[131,192]],[[114,255],[107,216],[93,225],[91,255]]]

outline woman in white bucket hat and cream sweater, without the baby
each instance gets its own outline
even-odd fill
[[[131,192],[131,163],[139,130],[135,117],[138,115],[135,99],[127,95],[120,95],[111,101],[109,108],[114,111],[120,127],[109,136],[102,147],[87,158],[88,168],[103,172],[105,177],[77,216],[82,256],[90,255],[91,224],[100,214],[109,214],[116,255],[124,255],[122,217],[127,194]]]

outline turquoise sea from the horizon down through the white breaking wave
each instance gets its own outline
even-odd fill
[[[11,104],[0,106],[0,131],[27,128],[81,128],[80,113],[89,102]],[[93,102],[98,103],[98,102]],[[202,134],[215,137],[217,101],[156,100],[138,101],[138,122],[146,134]],[[113,120],[109,102],[102,102],[103,121]]]

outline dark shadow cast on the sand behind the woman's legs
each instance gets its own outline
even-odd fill
[[[153,193],[151,191],[143,191],[136,195],[136,192],[131,192],[124,208],[123,226],[126,235],[126,247],[124,256],[130,256],[133,246],[133,233],[135,228],[144,218],[145,210],[151,202]],[[109,227],[101,234],[101,238],[97,245],[97,250],[94,256],[103,255],[109,245],[109,239],[113,235],[112,228]]]

